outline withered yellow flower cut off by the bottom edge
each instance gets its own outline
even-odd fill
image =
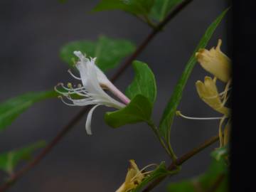
[[[122,186],[120,186],[115,192],[128,192],[136,188],[140,183],[142,183],[144,178],[151,172],[144,172],[144,170],[149,166],[156,166],[156,164],[150,164],[148,166],[145,166],[144,169],[139,170],[137,164],[135,164],[135,161],[133,159],[129,160],[129,168],[127,176],[125,177],[125,181],[124,183],[122,183]]]

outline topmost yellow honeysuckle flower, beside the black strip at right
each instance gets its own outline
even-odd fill
[[[216,48],[213,47],[210,50],[199,49],[196,53],[196,58],[205,70],[215,75],[219,80],[228,82],[231,78],[231,61],[220,50],[221,43],[222,41],[219,39]]]

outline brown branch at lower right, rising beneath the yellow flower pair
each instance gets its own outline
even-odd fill
[[[206,149],[206,147],[208,147],[211,144],[214,144],[215,142],[217,142],[218,139],[219,139],[218,136],[212,137],[212,138],[208,139],[206,142],[204,142],[203,144],[201,144],[200,146],[196,147],[195,149],[192,149],[188,153],[183,154],[183,156],[181,156],[176,161],[171,163],[171,165],[168,167],[168,170],[169,171],[174,171],[177,166],[181,166],[181,164],[183,164],[185,161],[190,159],[192,156],[198,154],[203,149]],[[151,191],[153,188],[158,186],[159,183],[161,183],[161,181],[164,181],[164,178],[166,178],[166,177],[167,176],[163,176],[163,177],[160,177],[160,178],[156,179],[156,181],[154,181],[153,183],[149,184],[149,186],[147,186],[142,192],[149,192],[149,191]]]

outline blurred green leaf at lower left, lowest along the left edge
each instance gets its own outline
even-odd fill
[[[33,151],[43,148],[44,146],[46,146],[46,142],[40,141],[36,142],[35,144],[25,146],[21,149],[0,154],[0,169],[5,171],[7,174],[12,174],[20,161],[30,160]]]

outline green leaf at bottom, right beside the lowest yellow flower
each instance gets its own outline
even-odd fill
[[[152,171],[149,176],[146,176],[146,178],[144,178],[144,180],[142,181],[142,183],[139,184],[139,186],[137,186],[137,188],[134,188],[131,192],[139,192],[140,190],[142,190],[142,188],[144,188],[144,186],[146,186],[149,182],[156,180],[156,178],[160,178],[163,176],[167,176],[169,174],[172,174],[171,171],[169,171],[168,169],[166,169],[166,165],[164,162],[161,162],[161,164],[156,167],[156,169],[154,171]]]

